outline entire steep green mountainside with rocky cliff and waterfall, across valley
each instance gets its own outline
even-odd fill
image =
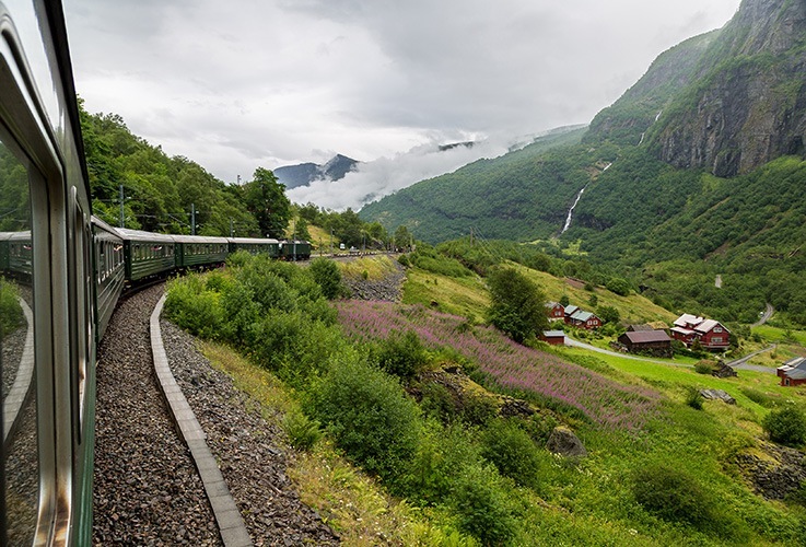
[[[669,309],[751,322],[772,302],[806,324],[805,74],[806,3],[745,0],[662,54],[579,142],[477,162],[361,214],[430,242],[472,229],[574,243]]]

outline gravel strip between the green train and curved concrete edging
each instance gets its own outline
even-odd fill
[[[122,301],[98,348],[95,545],[222,545],[153,372],[149,317],[162,290]]]

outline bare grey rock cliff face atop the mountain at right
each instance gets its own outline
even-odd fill
[[[806,3],[745,0],[651,136],[665,162],[717,176],[804,154]]]

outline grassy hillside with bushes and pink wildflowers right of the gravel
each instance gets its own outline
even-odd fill
[[[785,473],[781,451],[792,449],[767,431],[784,410],[802,416],[798,391],[769,373],[702,375],[685,359],[514,344],[486,325],[486,278],[451,256],[467,260],[472,248],[423,246],[400,259],[409,265],[404,302],[425,305],[327,304],[325,281],[340,275],[332,268],[236,255],[225,271],[174,281],[166,313],[242,349],[252,368],[231,373],[258,379],[248,388],[287,415],[290,440],[309,451],[291,472],[302,497],[349,543],[367,533],[406,545],[799,543],[802,489],[773,500],[757,482]],[[359,261],[360,275],[395,270],[383,260]],[[586,290],[502,256],[477,261],[487,271],[509,264],[550,299],[587,306],[596,296],[630,321],[670,317],[634,293]],[[759,337],[795,336],[775,333]],[[705,387],[737,404],[691,396]],[[558,426],[576,433],[587,457],[546,449]]]

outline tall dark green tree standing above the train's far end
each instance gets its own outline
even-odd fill
[[[271,171],[255,170],[253,179],[244,185],[244,200],[257,219],[261,235],[283,237],[291,217],[291,202],[285,197],[285,186],[277,182]]]

